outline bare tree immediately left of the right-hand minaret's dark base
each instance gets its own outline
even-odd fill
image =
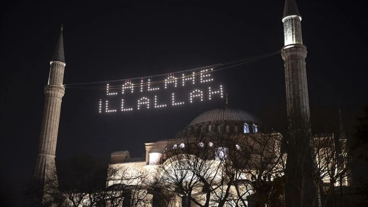
[[[228,140],[226,175],[231,180],[235,206],[278,206],[283,204],[282,176],[285,154],[280,133],[225,135]]]

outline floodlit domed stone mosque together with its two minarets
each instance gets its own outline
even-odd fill
[[[302,126],[308,126],[310,120],[305,62],[307,49],[303,45],[301,20],[295,1],[286,0],[281,53],[285,61],[289,130],[295,136]],[[33,182],[40,186],[52,176],[48,169],[55,166],[65,64],[61,33],[50,61],[39,153],[32,177]],[[256,202],[263,199],[260,193],[263,186],[267,188],[264,192],[273,192],[268,194],[269,200],[283,202],[284,194],[288,196],[290,189],[298,186],[286,182],[285,189],[289,187],[289,191],[283,192],[273,184],[281,182],[285,170],[290,170],[288,163],[295,163],[303,154],[283,152],[283,135],[262,131],[261,125],[252,114],[226,104],[223,108],[202,113],[171,140],[145,143],[145,157],[131,158],[129,151],[113,152],[109,170],[114,174],[108,177],[106,186],[109,192],[121,193],[107,200],[111,204],[119,202],[114,206],[256,206],[259,204]],[[334,139],[333,134],[328,137]],[[318,141],[321,137],[314,139]],[[300,140],[298,142],[302,145],[303,140]],[[345,139],[341,138],[340,142],[343,144],[338,147],[346,147]],[[327,147],[330,146],[325,145],[323,149]],[[320,152],[322,148],[316,149]],[[315,154],[318,152],[314,151]],[[322,179],[324,183],[330,181],[328,176],[326,174]],[[336,185],[349,185],[347,178],[336,182]],[[303,202],[308,204],[309,201]],[[90,200],[85,198],[81,205],[88,203]]]

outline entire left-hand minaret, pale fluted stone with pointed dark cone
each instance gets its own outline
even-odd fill
[[[43,188],[45,180],[55,169],[55,151],[59,129],[61,98],[64,95],[63,77],[65,68],[63,27],[54,54],[50,61],[49,82],[45,86],[45,103],[41,124],[39,151],[32,181],[35,187]]]

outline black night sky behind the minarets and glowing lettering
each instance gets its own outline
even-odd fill
[[[307,46],[311,111],[359,114],[367,101],[363,1],[297,1]],[[1,5],[1,177],[16,191],[38,151],[49,61],[64,25],[64,84],[189,70],[283,46],[283,1],[27,1]],[[280,54],[214,73],[230,104],[254,115],[285,111]],[[66,88],[56,159],[114,151],[144,153],[215,102],[123,116],[98,114],[105,92]],[[223,105],[223,103],[220,103]]]

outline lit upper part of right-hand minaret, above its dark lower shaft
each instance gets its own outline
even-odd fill
[[[302,39],[302,16],[293,0],[286,0],[282,22],[284,24],[285,85],[287,116],[290,124],[309,122],[309,98],[306,62],[307,47]]]

